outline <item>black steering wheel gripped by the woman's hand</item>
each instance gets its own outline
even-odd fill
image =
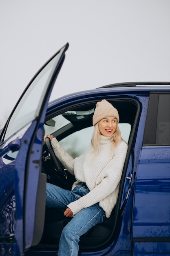
[[[53,147],[51,145],[51,140],[50,138],[46,138],[45,139],[45,143],[46,143],[46,146],[49,150],[49,154],[51,156],[51,160],[53,162],[53,165],[54,165],[54,168],[55,170],[61,174],[62,177],[64,177],[64,179],[67,179],[67,175],[66,175],[66,172],[64,170],[64,166],[60,163],[60,160],[56,157],[55,153],[54,153],[54,150],[53,150]]]

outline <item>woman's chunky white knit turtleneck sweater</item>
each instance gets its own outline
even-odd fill
[[[104,209],[106,217],[109,218],[117,202],[119,192],[119,182],[126,158],[128,145],[121,141],[115,152],[110,150],[111,140],[100,135],[101,148],[99,154],[93,158],[93,147],[90,145],[85,153],[73,159],[60,146],[57,139],[53,138],[51,144],[55,155],[60,159],[65,168],[73,175],[77,182],[86,182],[90,192],[79,200],[68,204],[68,208],[73,212],[73,216],[83,208],[99,202]]]

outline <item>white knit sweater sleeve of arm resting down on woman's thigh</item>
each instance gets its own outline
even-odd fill
[[[80,210],[90,207],[91,205],[103,200],[113,193],[121,180],[121,173],[124,167],[124,161],[127,153],[127,144],[122,141],[117,147],[116,154],[112,161],[106,166],[106,174],[100,184],[97,184],[88,194],[79,200],[68,204],[68,208],[73,212],[73,216]]]

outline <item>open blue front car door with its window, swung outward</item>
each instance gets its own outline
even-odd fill
[[[0,134],[0,255],[24,255],[44,226],[44,118],[68,43],[29,83]]]

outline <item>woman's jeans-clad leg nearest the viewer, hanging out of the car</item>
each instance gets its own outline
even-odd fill
[[[62,231],[58,256],[77,256],[80,236],[91,227],[101,223],[104,218],[105,212],[99,204],[94,204],[79,211]]]

